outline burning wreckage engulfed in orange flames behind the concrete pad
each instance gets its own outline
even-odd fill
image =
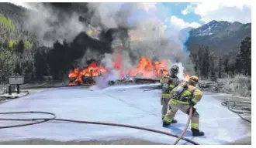
[[[96,61],[92,61],[85,69],[75,68],[71,70],[68,75],[70,80],[68,86],[88,85],[95,84],[95,78],[103,76],[115,71],[118,73],[116,81],[110,80],[109,85],[116,83],[152,83],[159,82],[161,76],[168,74],[168,66],[165,60],[151,61],[146,57],[140,57],[137,66],[133,69],[124,69],[122,66],[121,55],[114,55],[116,60],[112,60],[112,69],[107,69],[105,66],[100,65]]]

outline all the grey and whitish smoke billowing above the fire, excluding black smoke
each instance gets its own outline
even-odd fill
[[[184,36],[180,38],[180,30],[168,21],[169,18],[165,18],[165,21],[161,19],[169,12],[164,5],[157,5],[160,5],[160,9],[157,9],[159,7],[156,3],[88,3],[86,14],[89,14],[89,17],[84,18],[95,26],[92,27],[80,21],[85,13],[64,13],[63,9],[39,3],[36,4],[38,11],[28,14],[27,29],[36,32],[43,45],[49,46],[56,40],[62,42],[67,39],[71,42],[81,32],[86,36],[88,32],[85,31],[88,30],[98,30],[106,35],[106,30],[111,29],[109,35],[113,40],[108,41],[112,42],[111,49],[107,49],[104,44],[90,46],[85,55],[79,57],[80,66],[83,66],[86,60],[97,59],[99,54],[103,54],[101,62],[107,67],[112,67],[112,52],[116,52],[116,47],[122,45],[120,54],[125,69],[132,68],[141,56],[145,56],[151,60],[166,59],[168,68],[180,63],[178,66],[184,67],[184,72],[192,73],[193,66],[184,50]],[[102,41],[100,36],[99,40]]]

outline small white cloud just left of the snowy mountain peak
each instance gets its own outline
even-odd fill
[[[198,22],[185,22],[183,19],[178,18],[175,15],[171,16],[171,24],[175,25],[179,29],[184,29],[186,27],[198,28],[201,26]]]

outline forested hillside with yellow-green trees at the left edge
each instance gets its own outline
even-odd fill
[[[0,5],[0,79],[5,81],[15,74],[31,77],[33,55],[38,41],[22,29],[25,8],[1,3]]]

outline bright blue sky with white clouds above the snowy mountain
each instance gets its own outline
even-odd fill
[[[122,5],[122,4],[121,4]],[[130,5],[130,4],[126,4]],[[251,2],[164,2],[137,3],[130,19],[157,18],[166,25],[197,28],[212,20],[251,22]]]

